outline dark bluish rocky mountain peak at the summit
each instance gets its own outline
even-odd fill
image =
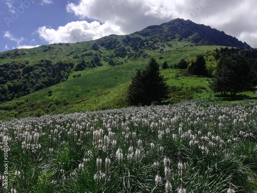
[[[235,37],[227,35],[224,31],[211,28],[204,24],[196,24],[191,20],[174,19],[161,25],[153,25],[137,31],[134,34],[152,36],[164,41],[186,40],[192,45],[219,45],[250,49],[247,43],[243,43]]]

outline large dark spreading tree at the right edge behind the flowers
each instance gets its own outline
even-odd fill
[[[230,92],[231,98],[236,93],[256,90],[257,78],[249,61],[238,53],[223,56],[217,65],[211,89],[222,95]]]

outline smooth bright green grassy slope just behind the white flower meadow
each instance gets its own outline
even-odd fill
[[[76,45],[76,44],[75,44]],[[163,54],[156,53],[154,58],[160,65],[166,60],[169,65],[173,65],[182,58],[195,56],[207,50],[213,50],[218,46],[197,46],[174,49],[164,52]],[[219,48],[219,47],[218,47]],[[163,57],[160,59],[160,57]],[[32,116],[37,109],[42,109],[47,113],[72,113],[88,110],[102,110],[124,106],[122,94],[125,87],[130,83],[131,77],[134,75],[137,68],[144,68],[148,64],[149,58],[142,60],[128,60],[123,65],[110,67],[104,66],[87,69],[81,73],[81,77],[72,78],[72,75],[77,75],[78,72],[72,72],[69,79],[57,85],[53,85],[46,89],[37,91],[30,95],[5,102],[0,104],[0,120],[8,120],[16,116],[17,118]],[[206,98],[214,95],[208,87],[206,78],[197,77],[179,77],[178,69],[162,70],[161,74],[166,78],[167,83],[172,86],[182,86],[183,89],[191,86],[204,86],[206,90],[197,94],[196,98]],[[117,76],[117,78],[115,78]],[[48,96],[48,91],[53,91],[52,96]],[[76,97],[79,93],[79,97]],[[252,96],[253,97],[253,96]],[[60,104],[57,110],[50,112],[49,103],[56,99],[68,101],[67,106]],[[76,103],[77,100],[88,98],[87,100]],[[123,104],[122,104],[123,103]]]

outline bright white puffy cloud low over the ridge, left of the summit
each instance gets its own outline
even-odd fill
[[[58,29],[40,27],[37,30],[40,38],[52,43],[75,43],[81,41],[95,40],[109,34],[121,34],[118,26],[111,23],[100,24],[99,22],[77,21],[60,26]]]

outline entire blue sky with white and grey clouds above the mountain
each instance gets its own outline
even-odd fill
[[[176,18],[257,48],[256,0],[0,0],[0,52],[130,34]]]

